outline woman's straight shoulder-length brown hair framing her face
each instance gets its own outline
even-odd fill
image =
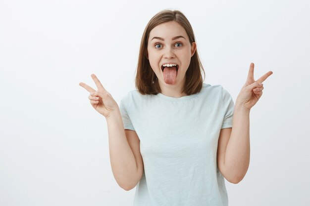
[[[161,23],[169,21],[175,21],[185,29],[191,45],[193,42],[195,42],[192,26],[181,11],[162,10],[155,14],[144,30],[140,45],[136,75],[136,88],[141,94],[157,94],[161,91],[158,79],[151,68],[146,54],[148,49],[149,35],[152,29]],[[186,82],[182,92],[186,93],[187,95],[198,93],[202,89],[204,82],[202,78],[202,72],[204,73],[205,79],[205,70],[196,50],[195,54],[191,57],[190,65],[186,71]]]

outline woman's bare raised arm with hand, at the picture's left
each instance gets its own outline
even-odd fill
[[[109,153],[112,172],[117,184],[124,190],[134,188],[143,174],[140,140],[133,130],[125,132],[119,107],[95,74],[91,75],[98,90],[84,82],[79,85],[91,92],[89,99],[94,109],[107,122]]]

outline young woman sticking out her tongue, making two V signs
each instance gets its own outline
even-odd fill
[[[140,46],[136,88],[118,107],[92,74],[80,83],[107,121],[113,175],[136,187],[134,206],[227,206],[224,178],[245,176],[250,161],[250,109],[271,71],[248,79],[236,104],[221,85],[203,82],[194,33],[177,10],[157,13]]]

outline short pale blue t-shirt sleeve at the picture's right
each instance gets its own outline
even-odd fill
[[[224,111],[224,120],[221,129],[230,128],[232,127],[233,123],[235,104],[229,92],[226,91],[223,87],[222,87],[222,105]]]

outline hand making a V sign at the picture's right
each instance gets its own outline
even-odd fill
[[[242,87],[237,100],[236,106],[242,106],[244,109],[249,110],[258,102],[262,95],[262,82],[265,81],[273,72],[269,71],[261,76],[257,81],[254,80],[254,63],[250,64],[248,79]]]

